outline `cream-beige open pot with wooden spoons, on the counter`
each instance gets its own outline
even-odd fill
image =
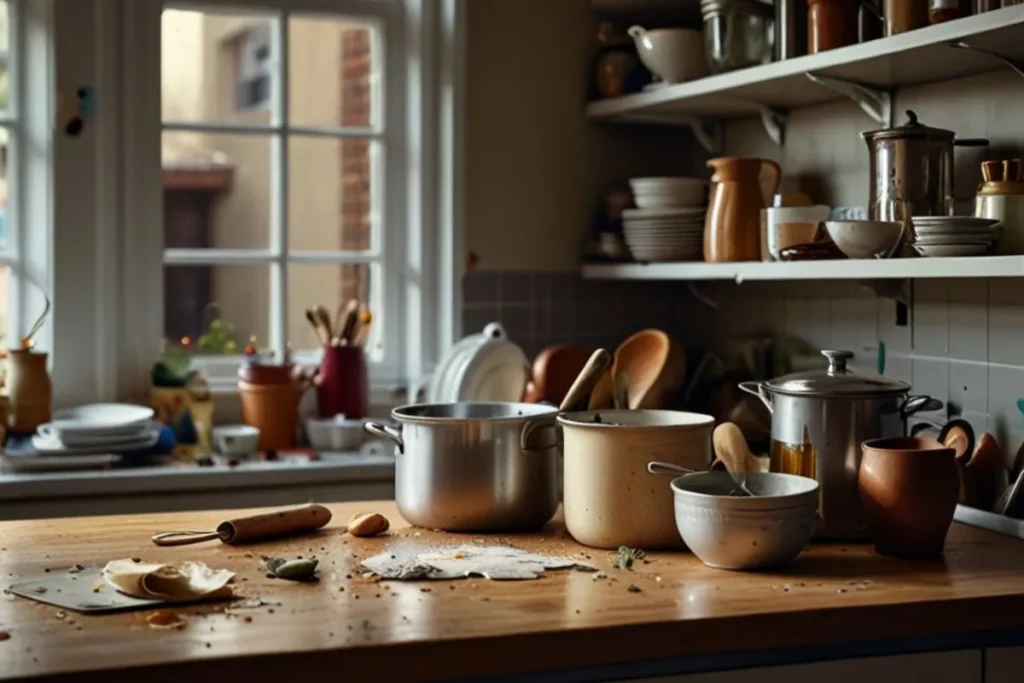
[[[692,470],[712,461],[710,415],[587,411],[558,417],[564,431],[565,526],[593,548],[683,547],[665,480],[652,460]]]

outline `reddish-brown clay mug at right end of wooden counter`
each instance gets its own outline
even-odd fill
[[[934,438],[864,441],[857,483],[874,548],[896,557],[936,557],[956,510],[952,449]]]

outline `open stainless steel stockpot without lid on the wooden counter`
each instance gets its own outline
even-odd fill
[[[558,508],[558,410],[538,403],[403,405],[394,441],[395,503],[412,524],[447,531],[537,528]]]

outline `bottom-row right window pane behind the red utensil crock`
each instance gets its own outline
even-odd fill
[[[288,339],[296,349],[314,348],[316,336],[306,321],[305,311],[322,304],[331,313],[332,327],[337,325],[338,308],[355,299],[374,315],[371,339],[380,332],[380,311],[371,292],[372,266],[364,263],[292,263],[288,266]],[[371,346],[368,343],[367,348]]]

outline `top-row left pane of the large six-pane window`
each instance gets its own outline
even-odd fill
[[[269,123],[273,26],[264,13],[165,10],[164,120]]]

